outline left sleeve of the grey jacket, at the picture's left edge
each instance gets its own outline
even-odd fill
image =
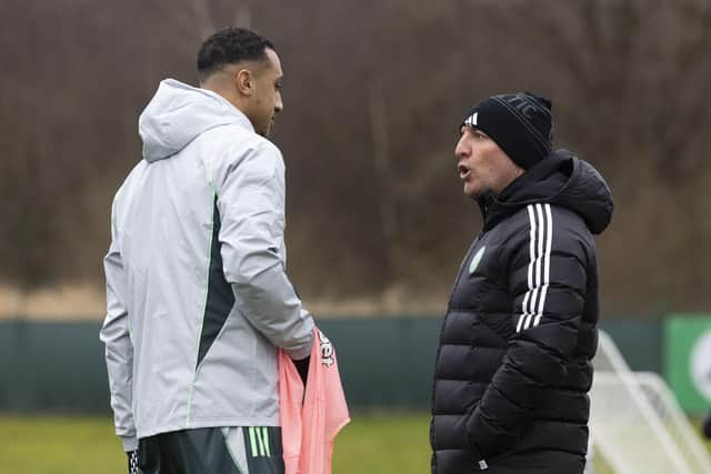
[[[121,437],[123,450],[128,452],[138,448],[131,406],[133,344],[126,306],[126,274],[119,251],[114,210],[111,214],[111,245],[103,259],[107,279],[107,316],[99,337],[106,345],[106,361],[116,434]]]

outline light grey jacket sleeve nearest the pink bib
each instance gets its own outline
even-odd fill
[[[216,172],[223,272],[239,311],[274,346],[307,357],[313,320],[287,278],[280,249],[284,235],[284,164],[269,142]]]

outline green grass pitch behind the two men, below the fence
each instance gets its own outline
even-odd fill
[[[428,415],[356,416],[336,441],[333,473],[429,474],[428,436]],[[0,472],[126,474],[126,456],[110,418],[0,416]],[[601,460],[595,474],[610,474]]]

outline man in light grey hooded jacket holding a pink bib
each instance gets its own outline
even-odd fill
[[[283,109],[269,40],[228,28],[200,88],[161,82],[143,159],[113,201],[104,258],[111,406],[129,468],[281,473],[277,351],[308,357],[313,320],[286,274]]]

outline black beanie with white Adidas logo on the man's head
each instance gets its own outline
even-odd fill
[[[551,152],[552,103],[531,92],[492,95],[474,107],[462,124],[489,135],[519,167],[528,170]]]

